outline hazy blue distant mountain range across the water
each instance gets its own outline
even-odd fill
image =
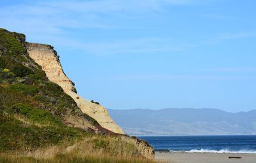
[[[108,111],[130,135],[256,134],[256,110],[238,113],[192,108]]]

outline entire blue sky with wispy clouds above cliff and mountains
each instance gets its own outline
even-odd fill
[[[256,1],[0,2],[0,27],[54,46],[106,108],[256,109]]]

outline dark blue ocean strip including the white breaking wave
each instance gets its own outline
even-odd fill
[[[256,153],[256,136],[139,136],[155,150],[188,153]]]

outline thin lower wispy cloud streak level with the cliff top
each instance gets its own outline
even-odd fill
[[[91,55],[138,55],[152,53],[161,55],[162,52],[180,52],[193,48],[193,44],[177,43],[164,38],[134,38],[114,41],[79,41],[77,39],[52,39],[65,48],[76,48]]]

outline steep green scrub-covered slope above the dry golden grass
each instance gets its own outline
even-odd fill
[[[0,29],[0,152],[30,151],[89,132],[108,132],[47,79],[24,41],[24,34]]]

